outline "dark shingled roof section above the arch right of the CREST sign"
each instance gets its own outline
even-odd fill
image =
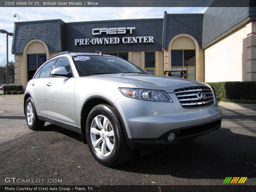
[[[163,49],[167,49],[171,39],[186,33],[193,36],[202,46],[204,14],[164,14]]]

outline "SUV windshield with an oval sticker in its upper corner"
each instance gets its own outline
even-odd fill
[[[144,73],[141,68],[124,59],[103,55],[74,56],[79,76],[110,73]]]

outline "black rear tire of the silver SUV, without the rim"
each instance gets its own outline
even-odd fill
[[[31,105],[31,107],[33,108],[33,122],[28,122],[28,105]],[[44,127],[44,121],[41,121],[38,119],[37,114],[36,114],[36,108],[35,108],[35,104],[34,101],[31,97],[29,97],[26,101],[26,105],[25,105],[25,115],[26,115],[26,121],[28,124],[29,129],[31,130],[39,130],[42,129]]]

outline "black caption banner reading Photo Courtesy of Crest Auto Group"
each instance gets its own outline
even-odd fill
[[[236,185],[223,185],[223,186],[109,186],[109,185],[93,185],[93,186],[74,186],[74,185],[64,185],[64,186],[17,186],[17,185],[2,185],[0,186],[1,192],[254,192],[255,186],[248,186],[243,184]]]

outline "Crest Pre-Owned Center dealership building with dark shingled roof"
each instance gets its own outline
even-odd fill
[[[186,69],[191,80],[256,81],[256,8],[164,12],[160,19],[16,22],[15,84],[25,88],[36,69],[56,53],[95,50],[122,57],[154,75]]]

